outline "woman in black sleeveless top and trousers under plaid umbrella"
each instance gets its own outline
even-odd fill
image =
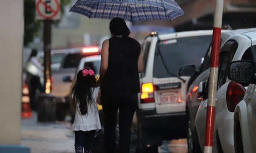
[[[131,123],[140,92],[139,74],[143,69],[142,47],[128,37],[129,28],[121,18],[109,25],[112,37],[102,44],[100,82],[108,153],[116,150],[116,114],[119,109],[119,153],[128,153]]]

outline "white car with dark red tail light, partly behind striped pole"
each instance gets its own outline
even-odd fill
[[[243,99],[244,84],[233,82],[227,78],[228,65],[235,60],[250,60],[253,52],[252,45],[256,44],[256,29],[250,32],[235,34],[222,46],[219,57],[218,81],[215,106],[215,123],[213,134],[212,152],[233,153],[234,150],[234,110],[235,106]],[[200,103],[195,117],[195,136],[201,150],[204,148],[206,125],[208,81],[198,85],[198,95],[203,101]],[[196,138],[195,138],[196,139]],[[199,150],[200,151],[200,150]]]

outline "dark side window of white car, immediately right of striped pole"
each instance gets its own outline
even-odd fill
[[[236,41],[228,41],[221,48],[219,57],[219,68],[218,68],[218,86],[221,87],[227,79],[227,67],[232,62],[238,43]]]

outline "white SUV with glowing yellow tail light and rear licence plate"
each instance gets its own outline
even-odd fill
[[[152,32],[143,44],[141,93],[136,111],[140,147],[157,152],[162,140],[186,138],[186,91],[190,72],[200,68],[212,30],[172,34]],[[190,70],[180,69],[191,65]]]

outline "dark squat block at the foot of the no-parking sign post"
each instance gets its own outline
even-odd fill
[[[52,94],[38,95],[38,122],[55,122],[56,118],[56,104]]]

